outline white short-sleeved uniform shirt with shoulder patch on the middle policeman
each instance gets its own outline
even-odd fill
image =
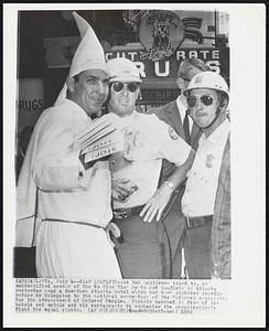
[[[112,179],[131,180],[138,190],[127,200],[114,201],[114,209],[139,206],[154,194],[162,159],[183,164],[191,147],[155,115],[133,111],[122,118],[125,151],[110,160]]]

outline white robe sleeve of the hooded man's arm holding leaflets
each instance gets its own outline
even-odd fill
[[[43,191],[85,190],[93,168],[85,171],[74,150],[75,125],[60,111],[50,113],[39,125],[37,152],[32,175]]]

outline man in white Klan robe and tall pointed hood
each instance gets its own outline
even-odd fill
[[[17,247],[36,246],[37,277],[121,278],[108,237],[108,161],[85,163],[75,137],[108,94],[105,54],[92,26],[73,13],[82,41],[55,103],[31,137],[17,191]]]

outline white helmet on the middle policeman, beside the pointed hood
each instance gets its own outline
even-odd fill
[[[141,83],[139,71],[136,64],[125,57],[116,57],[107,62],[109,70],[109,82],[122,82],[122,83]]]

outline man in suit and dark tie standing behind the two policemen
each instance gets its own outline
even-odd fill
[[[160,108],[153,107],[149,109],[150,114],[155,114],[160,119],[164,120],[181,138],[190,143],[194,150],[197,149],[197,142],[202,131],[193,124],[193,120],[189,116],[186,97],[183,93],[187,88],[191,79],[196,74],[205,71],[211,71],[211,68],[200,58],[186,58],[181,62],[176,78],[176,85],[180,89],[177,98]],[[161,182],[165,181],[173,170],[174,164],[163,160]],[[181,254],[185,234],[185,220],[181,211],[181,199],[183,193],[184,183],[174,191],[169,203],[169,211],[163,220],[171,245],[171,274],[172,278],[175,279],[184,277]]]

